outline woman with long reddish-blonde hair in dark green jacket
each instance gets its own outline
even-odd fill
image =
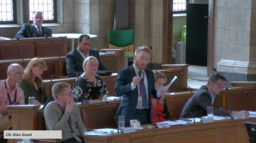
[[[46,86],[42,80],[39,81],[45,70],[47,70],[47,65],[39,58],[32,59],[25,68],[23,80],[18,83],[18,87],[24,92],[25,104],[29,103],[29,97],[35,97],[37,105],[44,105],[47,101]]]

